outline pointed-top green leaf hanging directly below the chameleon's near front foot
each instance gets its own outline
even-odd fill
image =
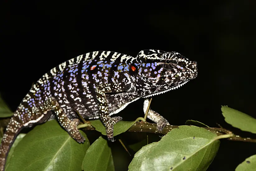
[[[114,162],[108,141],[101,136],[88,148],[83,160],[84,171],[114,171]]]

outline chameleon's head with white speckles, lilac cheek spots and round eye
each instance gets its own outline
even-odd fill
[[[143,80],[143,86],[147,87],[144,90],[149,91],[143,93],[144,97],[176,89],[196,78],[198,72],[197,62],[190,61],[177,52],[142,50],[137,59],[141,60],[141,65],[138,66],[140,74],[147,78]]]

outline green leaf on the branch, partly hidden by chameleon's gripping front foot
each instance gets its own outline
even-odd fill
[[[91,125],[93,127],[95,127],[96,131],[101,132],[103,135],[107,135],[106,134],[106,128],[105,126],[102,124],[102,122],[97,119],[97,120],[90,120]],[[119,121],[116,124],[114,124],[114,136],[117,136],[125,131],[127,131],[131,126],[133,126],[133,124],[136,121]]]

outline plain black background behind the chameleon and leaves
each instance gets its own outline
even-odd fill
[[[83,53],[109,50],[136,56],[142,49],[176,51],[198,62],[198,77],[153,97],[151,108],[173,125],[188,119],[238,129],[224,121],[221,105],[256,118],[256,1],[105,2],[2,1],[0,91],[14,111],[33,82],[56,65]],[[143,116],[143,100],[119,113]],[[116,115],[118,116],[118,115]],[[145,136],[127,133],[131,137]],[[116,170],[132,157],[114,142]],[[255,144],[221,140],[208,170],[235,170]]]

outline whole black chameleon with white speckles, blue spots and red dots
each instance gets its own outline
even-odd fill
[[[136,57],[112,51],[93,51],[52,68],[31,87],[14,112],[0,146],[0,170],[16,136],[25,127],[57,119],[78,143],[85,138],[77,125],[78,113],[85,119],[100,118],[109,141],[114,141],[114,124],[128,104],[174,90],[197,77],[197,62],[177,52],[148,49]],[[147,118],[157,123],[161,133],[169,122],[149,110]]]

